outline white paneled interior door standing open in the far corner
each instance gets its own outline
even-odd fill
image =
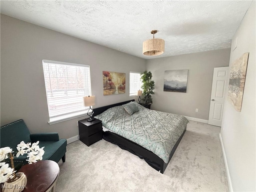
[[[228,67],[216,67],[213,72],[212,94],[208,124],[221,126],[224,106],[225,86],[228,80]]]

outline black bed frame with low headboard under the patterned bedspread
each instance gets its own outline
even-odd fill
[[[96,108],[96,109],[94,109],[94,116],[101,114],[108,108],[123,105],[123,104],[129,103],[131,101],[135,101],[135,100],[128,100],[125,102],[120,102],[120,103]],[[165,163],[164,160],[162,160],[160,157],[158,157],[153,152],[147,150],[146,148],[144,148],[144,147],[142,147],[142,146],[118,135],[118,134],[115,134],[113,132],[110,132],[110,131],[103,132],[103,138],[104,138],[104,140],[111,142],[113,144],[116,144],[120,148],[128,150],[132,154],[139,156],[141,159],[144,159],[152,168],[156,169],[157,171],[160,170],[160,172],[163,174],[164,170],[168,166],[168,164],[169,164],[169,162],[170,162],[170,160],[171,160],[176,148],[178,147],[178,144],[180,143],[180,140],[182,139],[185,132],[186,132],[186,128],[185,128],[184,132],[182,133],[182,135],[180,136],[180,138],[178,139],[178,141],[176,142],[176,144],[174,145],[174,147],[172,148],[168,163]]]

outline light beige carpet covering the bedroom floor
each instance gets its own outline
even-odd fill
[[[117,145],[68,144],[56,192],[228,191],[220,128],[190,121],[164,174]]]

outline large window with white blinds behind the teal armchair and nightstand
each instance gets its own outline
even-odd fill
[[[90,66],[43,60],[49,124],[86,114],[83,96],[91,95]]]

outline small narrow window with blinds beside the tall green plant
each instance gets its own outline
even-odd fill
[[[136,96],[138,90],[142,90],[142,81],[139,72],[130,72],[130,96]]]

